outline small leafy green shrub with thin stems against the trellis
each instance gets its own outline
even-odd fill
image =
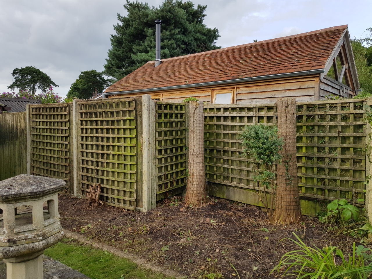
[[[259,183],[259,199],[268,211],[266,189],[272,189],[270,208],[274,208],[276,189],[274,165],[282,161],[279,150],[282,150],[284,140],[279,138],[277,126],[264,124],[245,126],[239,138],[243,140],[241,144],[244,147],[243,154],[251,156],[253,163],[256,164],[254,170],[256,175],[253,179]]]

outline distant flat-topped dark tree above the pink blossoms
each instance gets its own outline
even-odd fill
[[[31,96],[35,96],[36,89],[46,93],[50,86],[58,86],[47,74],[33,66],[26,66],[20,69],[15,68],[12,76],[14,81],[8,88],[12,90],[15,88],[28,90]]]

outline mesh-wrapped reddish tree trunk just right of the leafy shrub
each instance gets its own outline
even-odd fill
[[[296,100],[279,99],[278,132],[285,143],[280,153],[282,163],[277,169],[276,205],[273,223],[290,225],[302,219],[297,180],[297,146],[296,146]]]

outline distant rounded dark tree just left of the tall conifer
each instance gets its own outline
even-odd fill
[[[110,84],[110,80],[106,79],[102,72],[96,70],[81,71],[78,79],[71,84],[67,98],[89,99],[102,93]]]

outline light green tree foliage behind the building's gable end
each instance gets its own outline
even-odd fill
[[[371,97],[372,94],[372,28],[364,39],[352,39],[351,44],[362,92],[358,96]]]

